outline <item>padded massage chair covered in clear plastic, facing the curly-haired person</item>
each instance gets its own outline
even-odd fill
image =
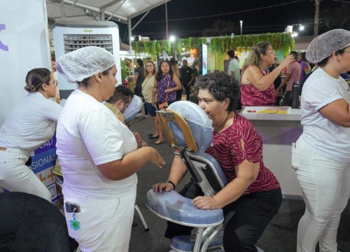
[[[195,113],[195,111],[204,113],[202,109],[198,109],[199,106],[191,102],[181,103],[180,107],[182,109],[193,109],[190,113]],[[193,121],[190,118],[187,118],[186,122],[183,113],[181,113],[181,116],[180,113],[177,113],[177,111],[181,111],[177,104],[179,102],[171,104],[168,109],[158,111],[158,120],[160,120],[160,125],[170,146],[180,151],[179,155],[181,155],[193,179],[202,188],[204,195],[213,196],[228,181],[218,162],[211,155],[202,152],[211,143],[212,129],[210,131],[209,125],[206,125],[205,122],[199,122],[198,127],[191,123]],[[207,118],[207,120],[209,119]],[[190,122],[190,125],[188,122]],[[198,252],[207,251],[208,248],[221,249],[223,237],[222,209],[197,209],[193,207],[190,199],[179,195],[174,190],[168,193],[155,193],[153,190],[149,190],[146,205],[160,218],[196,228],[195,240],[191,239],[190,235],[177,236],[172,239],[170,246],[174,251]]]

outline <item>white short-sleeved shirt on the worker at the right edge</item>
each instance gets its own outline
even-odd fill
[[[332,160],[350,162],[350,128],[342,127],[323,117],[319,110],[344,99],[350,104],[350,89],[342,77],[332,78],[318,68],[302,87],[302,145]]]

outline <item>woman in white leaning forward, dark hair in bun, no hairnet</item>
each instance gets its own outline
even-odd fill
[[[0,129],[0,188],[24,192],[51,201],[48,188],[27,167],[31,151],[55,134],[62,107],[51,99],[57,80],[50,70],[32,69],[25,79],[27,96],[10,111]]]

